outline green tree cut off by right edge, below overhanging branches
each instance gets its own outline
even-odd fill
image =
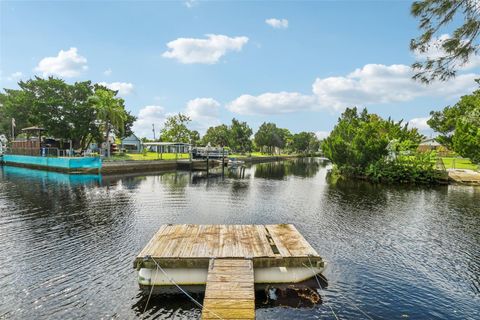
[[[473,162],[480,162],[480,90],[430,115],[427,123],[440,133],[438,142]]]

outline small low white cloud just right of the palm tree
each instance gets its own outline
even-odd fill
[[[158,138],[166,117],[162,106],[145,106],[140,109],[132,130],[139,138],[153,138],[152,124],[155,124],[155,137]]]

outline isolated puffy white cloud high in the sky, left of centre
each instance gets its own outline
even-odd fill
[[[247,37],[228,37],[207,34],[206,39],[178,38],[167,43],[168,50],[162,56],[177,59],[180,63],[217,63],[228,51],[240,51],[248,42]]]

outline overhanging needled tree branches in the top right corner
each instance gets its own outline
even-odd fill
[[[479,49],[480,6],[476,0],[421,0],[411,6],[423,33],[410,42],[410,49],[421,54],[440,52],[412,65],[414,79],[445,81],[455,76],[459,67]],[[439,37],[451,22],[462,21],[450,36]],[[450,26],[449,26],[450,28]]]

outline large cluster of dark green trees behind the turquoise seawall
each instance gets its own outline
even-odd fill
[[[91,81],[68,84],[64,80],[35,77],[18,83],[19,89],[0,93],[0,132],[11,138],[15,129],[38,126],[49,136],[71,140],[85,150],[111,134],[131,134],[136,117],[125,109],[118,92]]]

